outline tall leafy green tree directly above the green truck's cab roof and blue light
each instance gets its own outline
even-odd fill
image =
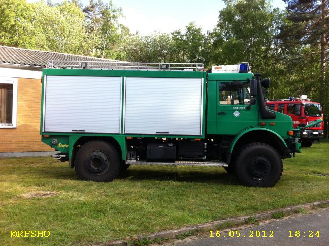
[[[225,1],[212,33],[212,58],[217,64],[249,61],[264,68],[273,40],[274,12],[266,0]]]

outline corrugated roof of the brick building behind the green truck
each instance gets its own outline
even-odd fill
[[[51,60],[114,61],[82,55],[22,49],[0,45],[0,63],[44,67]]]

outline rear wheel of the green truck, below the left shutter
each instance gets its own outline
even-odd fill
[[[75,170],[83,180],[111,182],[120,173],[118,151],[110,143],[90,141],[81,146],[75,158]]]

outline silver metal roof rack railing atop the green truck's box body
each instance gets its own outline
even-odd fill
[[[129,61],[51,60],[46,68],[203,71],[203,63],[135,63]]]

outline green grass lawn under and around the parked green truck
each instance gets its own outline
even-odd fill
[[[273,188],[250,188],[218,167],[131,166],[112,183],[77,179],[51,158],[0,159],[0,244],[91,244],[329,199],[329,142],[284,161]],[[44,198],[23,198],[55,191]],[[49,237],[11,238],[11,230]]]

